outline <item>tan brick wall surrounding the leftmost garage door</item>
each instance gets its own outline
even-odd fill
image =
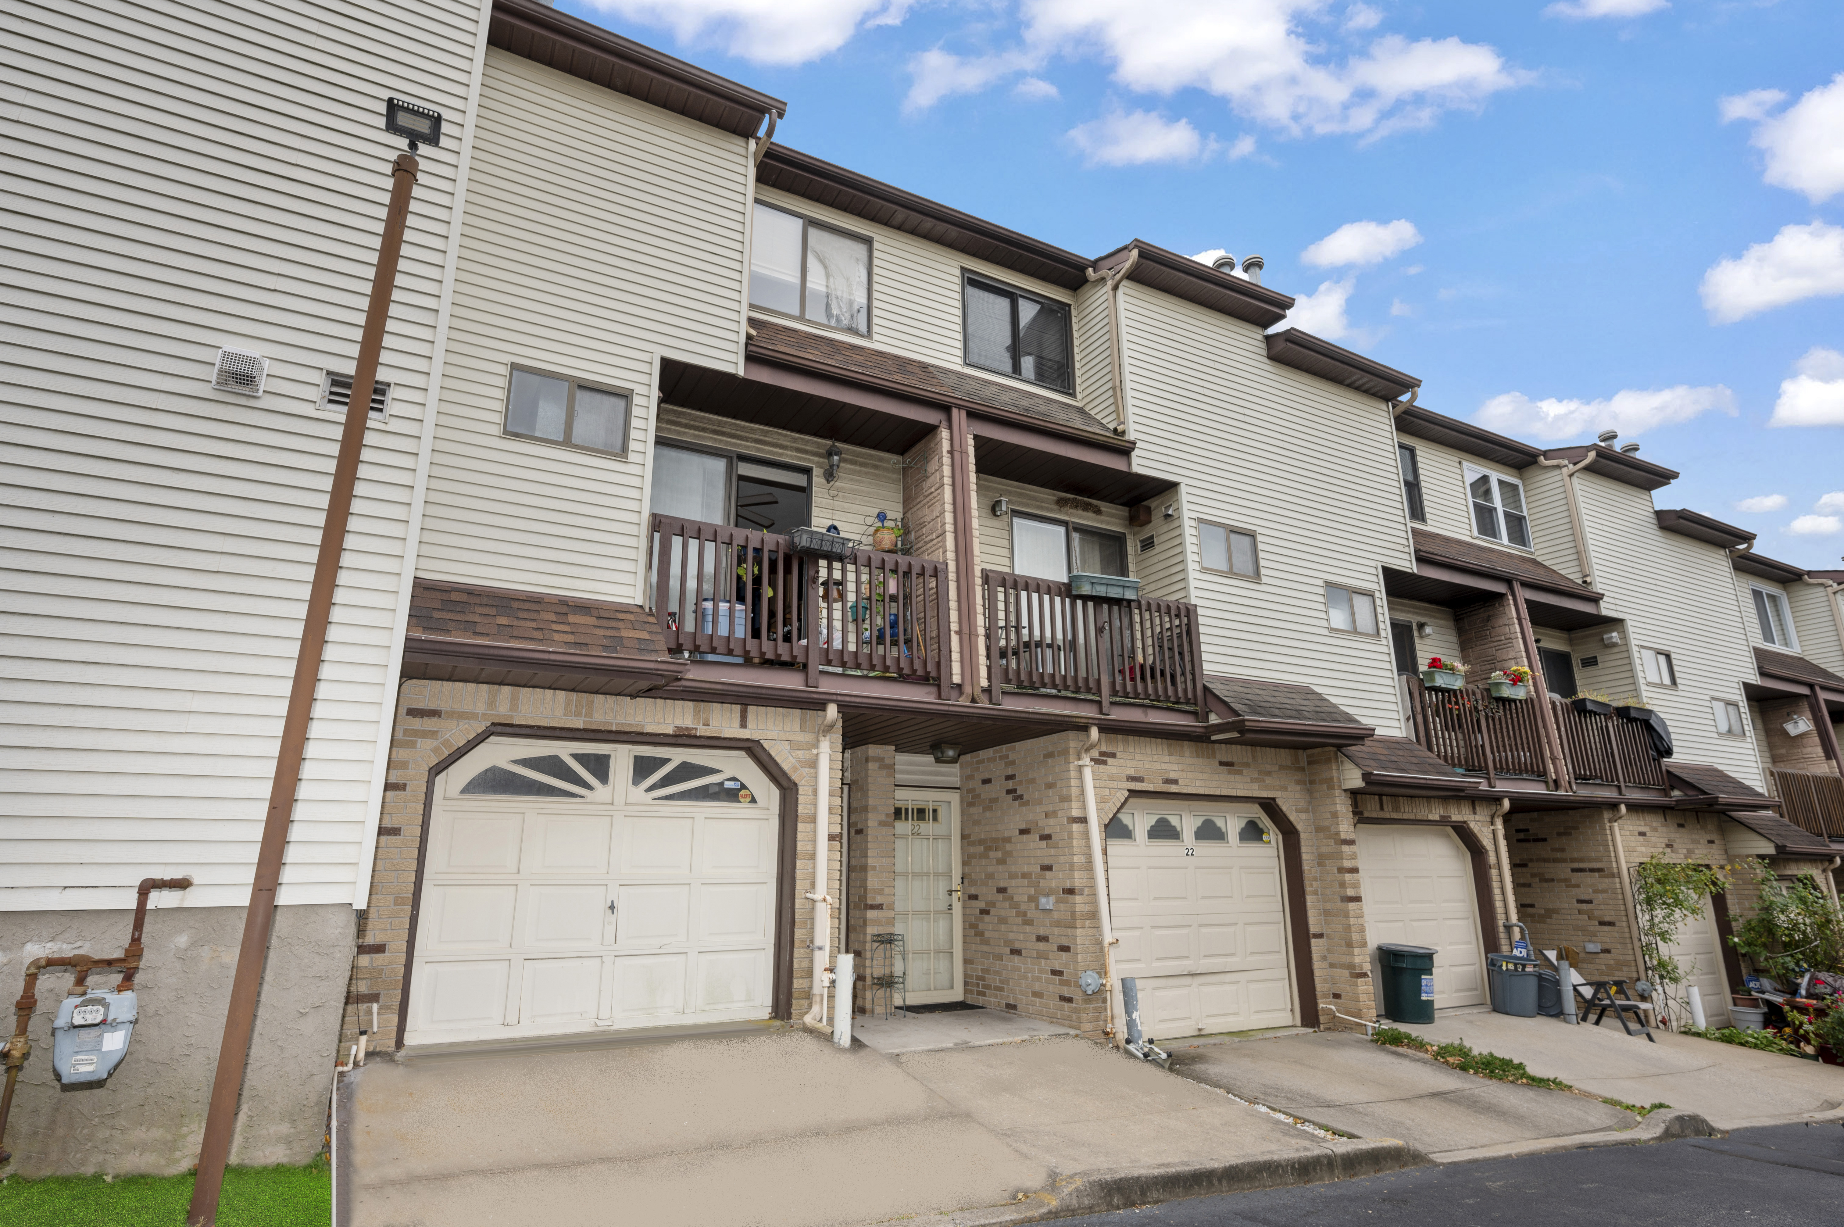
[[[378,827],[378,856],[371,875],[369,906],[360,919],[358,956],[347,991],[341,1050],[358,1041],[358,1028],[371,1026],[378,1006],[372,1048],[396,1048],[404,963],[409,950],[409,911],[417,889],[417,852],[422,847],[422,804],[430,769],[454,755],[489,725],[555,731],[568,738],[579,731],[610,731],[647,736],[710,736],[752,740],[773,756],[798,790],[793,882],[778,908],[793,913],[793,1017],[808,1011],[813,983],[813,797],[821,712],[739,703],[692,703],[675,699],[575,694],[527,686],[487,686],[459,681],[409,679],[398,688],[391,768]],[[839,797],[845,755],[832,734],[832,779]],[[828,841],[830,891],[839,884],[841,814],[837,801]],[[833,908],[828,947],[837,948],[843,908]]]

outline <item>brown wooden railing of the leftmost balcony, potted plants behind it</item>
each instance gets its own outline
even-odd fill
[[[655,515],[653,609],[673,651],[935,683],[953,697],[948,565],[856,550],[811,559],[793,541]]]

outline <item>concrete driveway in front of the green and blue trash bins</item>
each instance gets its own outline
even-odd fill
[[[1844,1116],[1844,1066],[1652,1031],[1656,1044],[1606,1026],[1479,1013],[1403,1026],[1431,1042],[1464,1039],[1532,1074],[1626,1103],[1671,1103],[1717,1129]]]

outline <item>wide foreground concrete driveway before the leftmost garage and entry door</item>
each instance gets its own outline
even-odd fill
[[[990,1227],[1416,1161],[1077,1037],[891,1057],[797,1030],[372,1061],[341,1151],[347,1227]]]

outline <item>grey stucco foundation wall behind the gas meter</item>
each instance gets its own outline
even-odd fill
[[[52,1074],[52,1019],[72,974],[52,969],[39,976],[33,1052],[20,1070],[7,1122],[6,1146],[13,1151],[7,1173],[170,1175],[197,1161],[243,913],[243,908],[148,913],[146,956],[135,978],[140,1022],[107,1083],[61,1089]],[[0,911],[0,985],[7,1002],[35,958],[122,954],[133,917],[133,910]],[[234,1164],[306,1162],[323,1146],[354,917],[349,904],[275,911],[230,1146]],[[116,980],[114,972],[90,976],[100,987]]]

